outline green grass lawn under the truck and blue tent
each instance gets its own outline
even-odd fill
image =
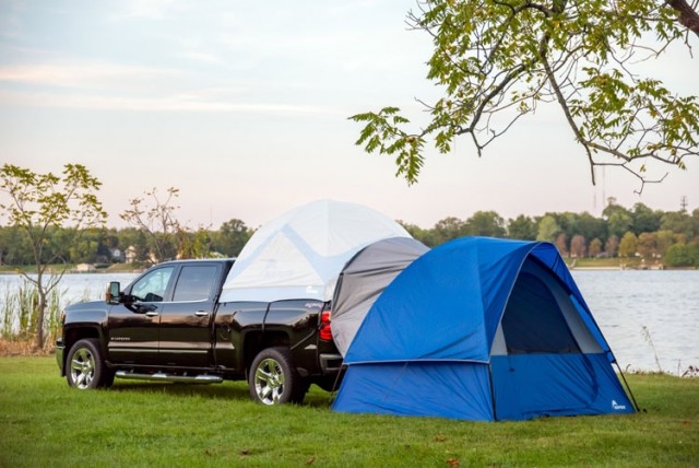
[[[244,383],[71,389],[54,358],[0,358],[0,467],[697,466],[699,379],[627,376],[647,412],[469,422],[344,414],[313,387],[266,408]]]

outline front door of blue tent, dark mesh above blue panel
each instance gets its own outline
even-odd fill
[[[493,350],[500,355],[491,361],[498,419],[576,413],[597,394],[592,365],[544,274],[525,268],[502,314]]]

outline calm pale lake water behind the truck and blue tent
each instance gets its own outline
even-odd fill
[[[621,368],[660,366],[682,374],[699,366],[699,271],[573,270],[572,276]],[[123,286],[135,277],[67,274],[59,288],[64,304],[100,300],[109,281]],[[20,283],[14,274],[0,274],[0,311],[8,291]]]

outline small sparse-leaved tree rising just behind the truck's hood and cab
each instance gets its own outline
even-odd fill
[[[164,200],[161,200],[156,188],[144,195],[150,198],[151,206],[146,206],[144,198],[133,198],[129,201],[131,208],[119,217],[146,235],[156,261],[173,259],[178,251],[178,233],[182,231],[175,218],[179,207],[174,204],[179,197],[179,189],[168,188]]]

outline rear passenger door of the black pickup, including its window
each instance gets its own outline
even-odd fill
[[[159,355],[163,366],[208,367],[212,364],[211,327],[222,265],[183,265],[170,302],[163,304]]]

